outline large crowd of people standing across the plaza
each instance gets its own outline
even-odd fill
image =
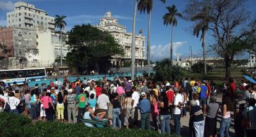
[[[250,136],[256,130],[256,85],[244,80],[241,84],[233,79],[223,83],[218,88],[221,102],[217,102],[214,82],[194,78],[156,82],[125,77],[115,77],[113,81],[106,77],[98,81],[86,78],[69,81],[65,77],[63,81],[56,79],[49,85],[36,84],[33,88],[27,83],[22,88],[16,83],[0,86],[0,112],[20,114],[24,109],[25,115],[33,120],[81,123],[87,119],[109,122],[113,128],[151,130],[151,119],[155,131],[181,135],[181,118],[188,117],[189,110],[189,136],[217,136],[217,122],[221,137],[230,136],[231,127],[236,136]],[[113,119],[108,117],[109,113]]]

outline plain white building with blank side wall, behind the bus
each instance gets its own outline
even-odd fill
[[[38,43],[38,54],[40,67],[49,67],[58,56],[61,56],[61,43],[59,33],[51,30],[38,30],[36,32],[36,41]],[[68,36],[63,39],[66,41]],[[63,42],[62,55],[67,56],[69,46]]]

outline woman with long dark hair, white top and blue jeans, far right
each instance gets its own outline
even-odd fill
[[[229,96],[224,96],[224,98],[222,98],[221,105],[222,118],[220,123],[220,137],[224,137],[224,132],[226,133],[226,136],[229,137],[229,126],[231,123],[230,112],[232,107],[231,98]]]

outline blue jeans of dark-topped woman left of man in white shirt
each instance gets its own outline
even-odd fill
[[[170,134],[171,133],[170,119],[171,119],[171,115],[160,115],[161,134],[164,134],[164,133]]]

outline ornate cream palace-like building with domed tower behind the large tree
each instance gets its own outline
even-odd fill
[[[102,31],[109,31],[114,36],[117,43],[121,44],[125,55],[114,57],[113,65],[124,65],[124,62],[131,62],[132,33],[126,32],[126,27],[120,25],[118,20],[112,17],[111,12],[106,12],[105,17],[100,19],[100,24],[96,25]],[[145,36],[142,33],[135,36],[135,64],[137,67],[143,67],[145,60]]]

